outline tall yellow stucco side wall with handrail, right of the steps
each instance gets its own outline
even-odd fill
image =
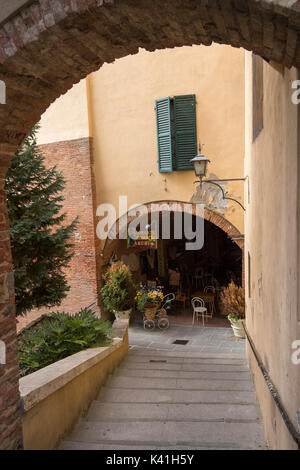
[[[266,62],[264,128],[252,143],[252,56],[246,53],[246,201],[247,328],[269,370],[295,428],[300,410],[300,366],[293,364],[292,342],[300,338],[297,321],[297,106],[292,103],[295,69],[284,73]],[[299,203],[298,203],[299,204]],[[248,256],[251,256],[250,279]],[[266,439],[273,449],[294,449],[250,348]]]

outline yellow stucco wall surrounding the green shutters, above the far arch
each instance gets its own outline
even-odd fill
[[[119,195],[129,205],[190,201],[193,171],[158,171],[155,100],[192,93],[198,141],[211,160],[207,176],[243,176],[244,51],[217,44],[141,50],[90,76],[98,204],[118,207]],[[242,202],[243,183],[226,189]],[[239,206],[229,203],[223,215],[244,233]]]

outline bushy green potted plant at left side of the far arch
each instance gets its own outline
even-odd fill
[[[129,267],[118,261],[110,266],[103,278],[101,294],[105,309],[113,312],[116,319],[129,319],[136,295]]]

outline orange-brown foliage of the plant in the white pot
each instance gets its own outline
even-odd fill
[[[237,286],[233,281],[227,287],[223,287],[220,300],[224,314],[232,320],[245,318],[245,290]]]

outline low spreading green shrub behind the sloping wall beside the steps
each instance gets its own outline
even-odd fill
[[[87,308],[75,315],[53,313],[41,326],[20,334],[21,375],[31,374],[83,349],[107,346],[111,343],[108,338],[111,332],[110,322],[96,318]]]

